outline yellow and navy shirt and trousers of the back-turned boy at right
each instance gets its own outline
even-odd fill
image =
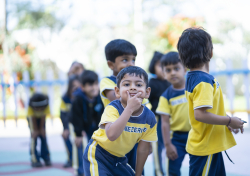
[[[194,117],[194,110],[201,107],[208,107],[207,112],[226,116],[219,82],[208,73],[190,71],[186,80],[186,97],[192,126],[186,146],[190,153],[189,175],[226,175],[221,152],[236,145],[232,133],[226,125],[202,123]]]

